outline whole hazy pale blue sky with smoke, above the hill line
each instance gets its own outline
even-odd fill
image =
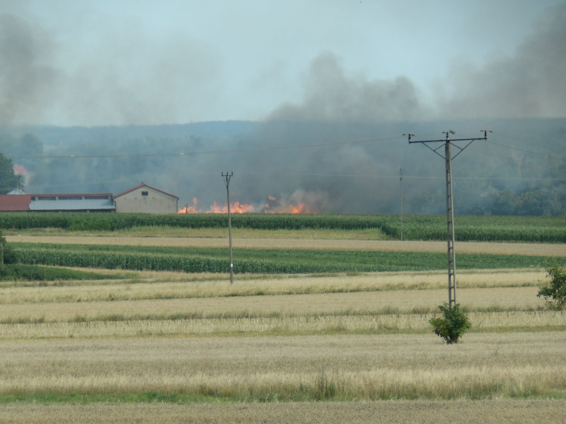
[[[502,105],[517,86],[534,86],[547,98],[561,85],[547,104],[523,93],[511,101],[524,107],[493,111],[564,116],[564,58],[556,59],[562,53],[556,49],[566,44],[564,5],[2,0],[0,124],[258,120],[306,111],[313,119],[344,116],[340,108],[329,111],[328,102],[353,105],[345,118],[354,120],[367,120],[367,110],[383,119],[439,118],[454,108],[468,116],[477,103],[464,104],[456,94],[474,97],[483,85],[497,92],[491,103],[503,97]],[[529,82],[536,75],[525,70],[541,46],[552,44],[548,40],[556,41],[554,47],[536,60],[559,62],[531,71],[544,74],[538,89]],[[518,75],[516,86],[508,86],[502,73]],[[507,94],[498,92],[498,78]],[[367,96],[371,101],[359,99]]]

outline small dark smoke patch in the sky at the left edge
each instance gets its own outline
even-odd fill
[[[10,14],[0,15],[0,125],[39,115],[57,96],[58,71],[49,34]]]

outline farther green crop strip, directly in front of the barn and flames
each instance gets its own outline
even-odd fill
[[[0,228],[65,228],[71,231],[115,231],[140,226],[225,228],[225,214],[1,213]],[[366,230],[379,228],[391,239],[400,237],[397,215],[234,214],[234,228],[259,230]],[[459,241],[528,241],[566,243],[565,217],[496,217],[462,215],[455,219]],[[406,240],[444,240],[444,215],[406,215]]]

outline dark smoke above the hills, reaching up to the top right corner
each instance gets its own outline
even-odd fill
[[[566,5],[553,7],[512,57],[465,67],[448,78],[450,94],[439,100],[443,117],[566,116]]]

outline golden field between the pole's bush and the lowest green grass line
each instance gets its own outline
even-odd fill
[[[0,393],[291,393],[346,399],[555,395],[566,388],[560,332],[3,341]],[[302,388],[301,388],[302,387]],[[275,399],[272,399],[275,400]]]

